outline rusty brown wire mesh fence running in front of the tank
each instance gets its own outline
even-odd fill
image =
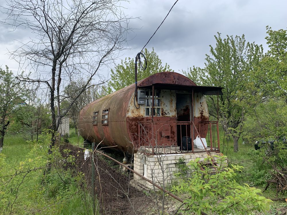
[[[183,206],[174,198],[163,195],[162,191],[147,191],[131,185],[133,173],[120,170],[120,166],[112,166],[113,161],[107,160],[99,153],[88,152],[69,143],[61,142],[59,146],[62,156],[73,157],[74,163],[68,168],[85,175],[88,187],[92,187],[92,164],[95,165],[95,199],[96,214],[178,214]],[[94,154],[94,159],[92,159]],[[163,197],[164,196],[164,197]],[[185,213],[192,214],[192,213]]]

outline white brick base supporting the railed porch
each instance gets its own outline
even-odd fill
[[[219,155],[220,153],[212,153],[212,155]],[[158,157],[161,156],[161,157]],[[157,184],[162,185],[162,169],[164,169],[164,181],[165,186],[170,185],[172,180],[174,180],[174,175],[172,173],[176,172],[178,169],[175,166],[179,159],[182,158],[185,163],[188,163],[195,158],[200,158],[200,161],[203,161],[208,155],[204,153],[186,153],[186,154],[177,154],[177,155],[144,155],[136,153],[134,155],[134,170],[141,175],[144,175],[144,164],[141,162],[143,158],[146,160],[148,165],[148,170],[146,177],[151,181],[154,181]],[[136,174],[133,174],[134,179],[145,185],[149,189],[153,189],[153,185],[145,180],[140,180],[140,177]]]

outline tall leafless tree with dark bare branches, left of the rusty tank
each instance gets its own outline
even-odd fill
[[[46,86],[52,115],[52,130],[74,101],[104,66],[110,65],[126,48],[130,18],[118,0],[11,0],[3,7],[2,24],[28,28],[34,38],[11,58],[34,70],[23,81]],[[61,110],[63,87],[79,77],[87,82],[75,93],[66,110]],[[51,145],[55,144],[52,132]]]

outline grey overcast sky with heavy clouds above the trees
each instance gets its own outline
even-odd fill
[[[175,0],[146,0],[123,3],[125,14],[140,19],[130,22],[131,28],[137,28],[129,35],[129,47],[121,58],[134,58],[146,44],[150,36],[162,22]],[[5,4],[0,0],[0,5]],[[266,29],[273,30],[287,27],[287,1],[248,1],[248,0],[179,0],[165,22],[152,38],[146,48],[154,50],[163,63],[168,63],[174,71],[186,70],[193,65],[203,67],[205,54],[209,53],[209,45],[215,45],[214,35],[242,35],[249,42],[263,44],[265,51]],[[3,15],[0,14],[0,18]],[[29,40],[24,30],[8,32],[7,26],[0,25],[0,66],[7,64],[13,71],[18,70],[15,61],[6,55],[7,50],[15,50],[20,43]],[[120,59],[117,61],[120,62]],[[106,71],[102,71],[106,73]]]

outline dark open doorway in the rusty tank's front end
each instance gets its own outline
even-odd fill
[[[176,97],[176,110],[178,122],[189,122],[191,118],[191,95],[177,93]],[[177,145],[181,146],[181,140],[184,136],[191,136],[190,124],[177,125]]]

